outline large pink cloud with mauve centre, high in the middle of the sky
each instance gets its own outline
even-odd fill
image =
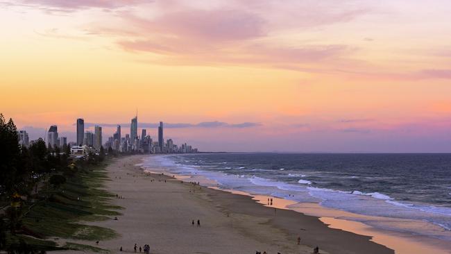
[[[356,50],[339,44],[266,44],[261,39],[268,36],[267,22],[243,10],[178,11],[154,19],[128,13],[124,19],[138,31],[138,36],[121,37],[117,43],[129,51],[169,56],[159,63],[291,66],[330,60]]]

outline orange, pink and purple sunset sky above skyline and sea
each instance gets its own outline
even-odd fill
[[[31,139],[451,152],[451,1],[0,0],[0,112]]]

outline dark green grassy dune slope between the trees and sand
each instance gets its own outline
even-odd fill
[[[108,220],[121,214],[117,211],[121,207],[109,204],[114,195],[103,189],[105,180],[108,176],[103,164],[78,170],[59,189],[44,188],[40,195],[49,198],[31,208],[22,220],[24,227],[38,237],[83,240],[117,237],[109,228],[79,223]]]

